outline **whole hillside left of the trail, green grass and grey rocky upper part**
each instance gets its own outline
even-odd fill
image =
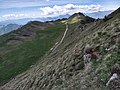
[[[0,36],[0,85],[34,65],[65,30],[59,22],[29,22]]]

